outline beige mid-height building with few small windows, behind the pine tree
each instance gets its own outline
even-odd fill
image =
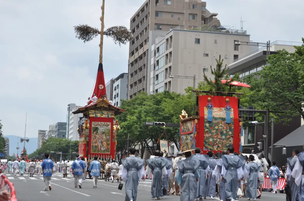
[[[195,86],[204,80],[204,73],[212,79],[210,66],[216,68],[219,55],[224,68],[249,53],[250,46],[236,46],[234,41],[249,42],[250,35],[244,30],[178,26],[158,36],[149,53],[148,93],[185,93],[194,77]]]

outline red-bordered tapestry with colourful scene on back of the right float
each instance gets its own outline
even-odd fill
[[[210,102],[208,98],[211,98]],[[229,99],[229,102],[226,102]],[[208,104],[212,104],[212,121],[208,121]],[[230,123],[226,123],[225,106],[230,107]],[[223,151],[233,146],[238,152],[240,147],[240,123],[237,97],[199,96],[199,147],[206,151]],[[204,136],[204,137],[202,137]],[[202,140],[203,138],[203,140]],[[198,147],[198,146],[196,146]]]

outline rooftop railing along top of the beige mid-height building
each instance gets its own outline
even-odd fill
[[[196,26],[179,25],[179,26],[177,26],[174,29],[192,30],[192,31],[209,31],[209,32],[221,32],[221,33],[247,35],[247,31],[246,30],[221,29],[221,28],[213,28],[213,27],[205,27],[205,26],[196,27]]]

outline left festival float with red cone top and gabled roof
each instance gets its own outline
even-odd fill
[[[80,107],[73,114],[82,113],[83,117],[78,121],[79,155],[89,162],[98,156],[100,161],[115,159],[116,133],[120,129],[115,116],[126,110],[115,107],[106,99],[105,80],[102,64],[98,66],[95,89],[92,98],[97,101]]]

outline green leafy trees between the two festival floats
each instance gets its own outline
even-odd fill
[[[149,148],[150,154],[159,149],[157,140],[164,133],[163,127],[144,126],[145,122],[179,123],[179,115],[187,104],[193,104],[192,95],[182,95],[175,92],[164,91],[150,94],[140,93],[136,97],[123,101],[121,108],[126,112],[117,116],[120,127],[117,134],[117,152],[127,150],[127,136],[130,134],[130,147],[140,144],[141,156],[145,148]],[[178,128],[166,127],[161,140],[170,140],[170,144],[179,147]],[[150,147],[149,144],[157,144]]]

